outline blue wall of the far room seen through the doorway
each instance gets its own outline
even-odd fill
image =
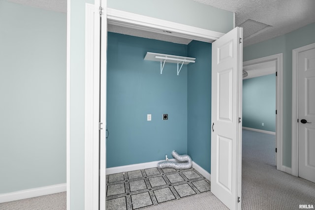
[[[276,74],[243,80],[243,126],[276,131]]]

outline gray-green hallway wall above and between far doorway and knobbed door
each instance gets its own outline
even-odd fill
[[[315,42],[315,23],[243,49],[243,60],[283,53],[283,165],[291,167],[292,50]]]

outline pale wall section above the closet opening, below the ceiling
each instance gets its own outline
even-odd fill
[[[109,8],[226,33],[233,29],[233,12],[193,0],[107,0]]]

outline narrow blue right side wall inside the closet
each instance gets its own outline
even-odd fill
[[[188,66],[188,154],[203,169],[211,172],[211,44],[192,41]]]

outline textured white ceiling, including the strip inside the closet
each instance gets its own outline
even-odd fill
[[[66,12],[66,0],[8,0]],[[315,0],[194,0],[235,12],[235,25],[244,28],[244,46],[261,42],[315,22]],[[188,44],[189,39],[109,26],[109,31]]]

